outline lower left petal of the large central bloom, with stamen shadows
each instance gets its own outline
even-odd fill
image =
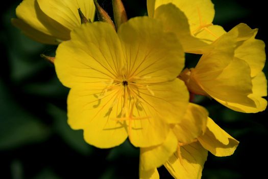
[[[83,129],[87,143],[110,148],[127,139],[126,125],[115,120],[121,111],[120,90],[108,91],[98,98],[105,88],[104,83],[80,85],[72,88],[68,95],[68,124],[73,129]]]

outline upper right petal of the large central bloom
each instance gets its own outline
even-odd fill
[[[130,34],[131,32],[131,34]],[[123,44],[128,78],[146,82],[173,80],[184,67],[184,53],[174,34],[149,17],[135,17],[118,29]]]

